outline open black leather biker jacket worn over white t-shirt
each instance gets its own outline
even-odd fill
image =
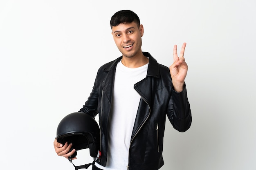
[[[191,125],[191,110],[186,86],[177,93],[173,90],[169,68],[149,57],[145,79],[134,85],[141,95],[129,150],[130,170],[157,170],[164,165],[162,158],[166,115],[173,127],[184,132]],[[108,151],[108,116],[110,114],[115,68],[122,57],[99,68],[90,97],[81,112],[95,117],[99,113],[101,158],[98,163],[106,166]],[[121,132],[120,132],[121,133]]]

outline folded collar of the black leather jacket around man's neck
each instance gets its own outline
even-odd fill
[[[149,58],[147,77],[148,76],[153,76],[153,77],[159,78],[159,69],[158,69],[158,64],[157,64],[157,61],[155,60],[155,58],[153,58],[152,55],[150,55],[150,53],[148,53],[148,52],[142,52],[142,53],[143,53],[143,55],[145,55],[146,57]],[[122,59],[122,56],[118,57],[113,62],[110,62],[110,63],[106,64],[105,68],[103,68],[103,70],[108,72],[112,68],[115,68],[117,63],[121,59]]]

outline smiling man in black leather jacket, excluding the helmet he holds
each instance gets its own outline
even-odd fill
[[[110,25],[122,56],[99,68],[92,93],[80,110],[92,117],[99,113],[101,157],[92,170],[157,170],[164,164],[166,115],[180,132],[191,126],[184,82],[186,43],[180,57],[174,46],[174,62],[168,68],[141,51],[144,27],[137,14],[118,11]],[[75,152],[68,152],[71,146],[54,141],[59,156],[71,156]]]

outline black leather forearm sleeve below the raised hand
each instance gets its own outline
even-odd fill
[[[173,128],[179,132],[185,132],[190,128],[192,116],[187,97],[186,84],[184,84],[184,89],[180,93],[174,91],[173,88],[171,89],[167,116],[171,121]]]

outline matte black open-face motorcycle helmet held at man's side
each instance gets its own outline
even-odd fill
[[[56,139],[59,143],[73,144],[71,150],[90,149],[90,156],[99,152],[99,125],[90,115],[82,112],[70,113],[58,125]],[[70,152],[71,152],[70,150]],[[71,158],[76,157],[75,152]],[[70,159],[71,160],[71,159]]]

